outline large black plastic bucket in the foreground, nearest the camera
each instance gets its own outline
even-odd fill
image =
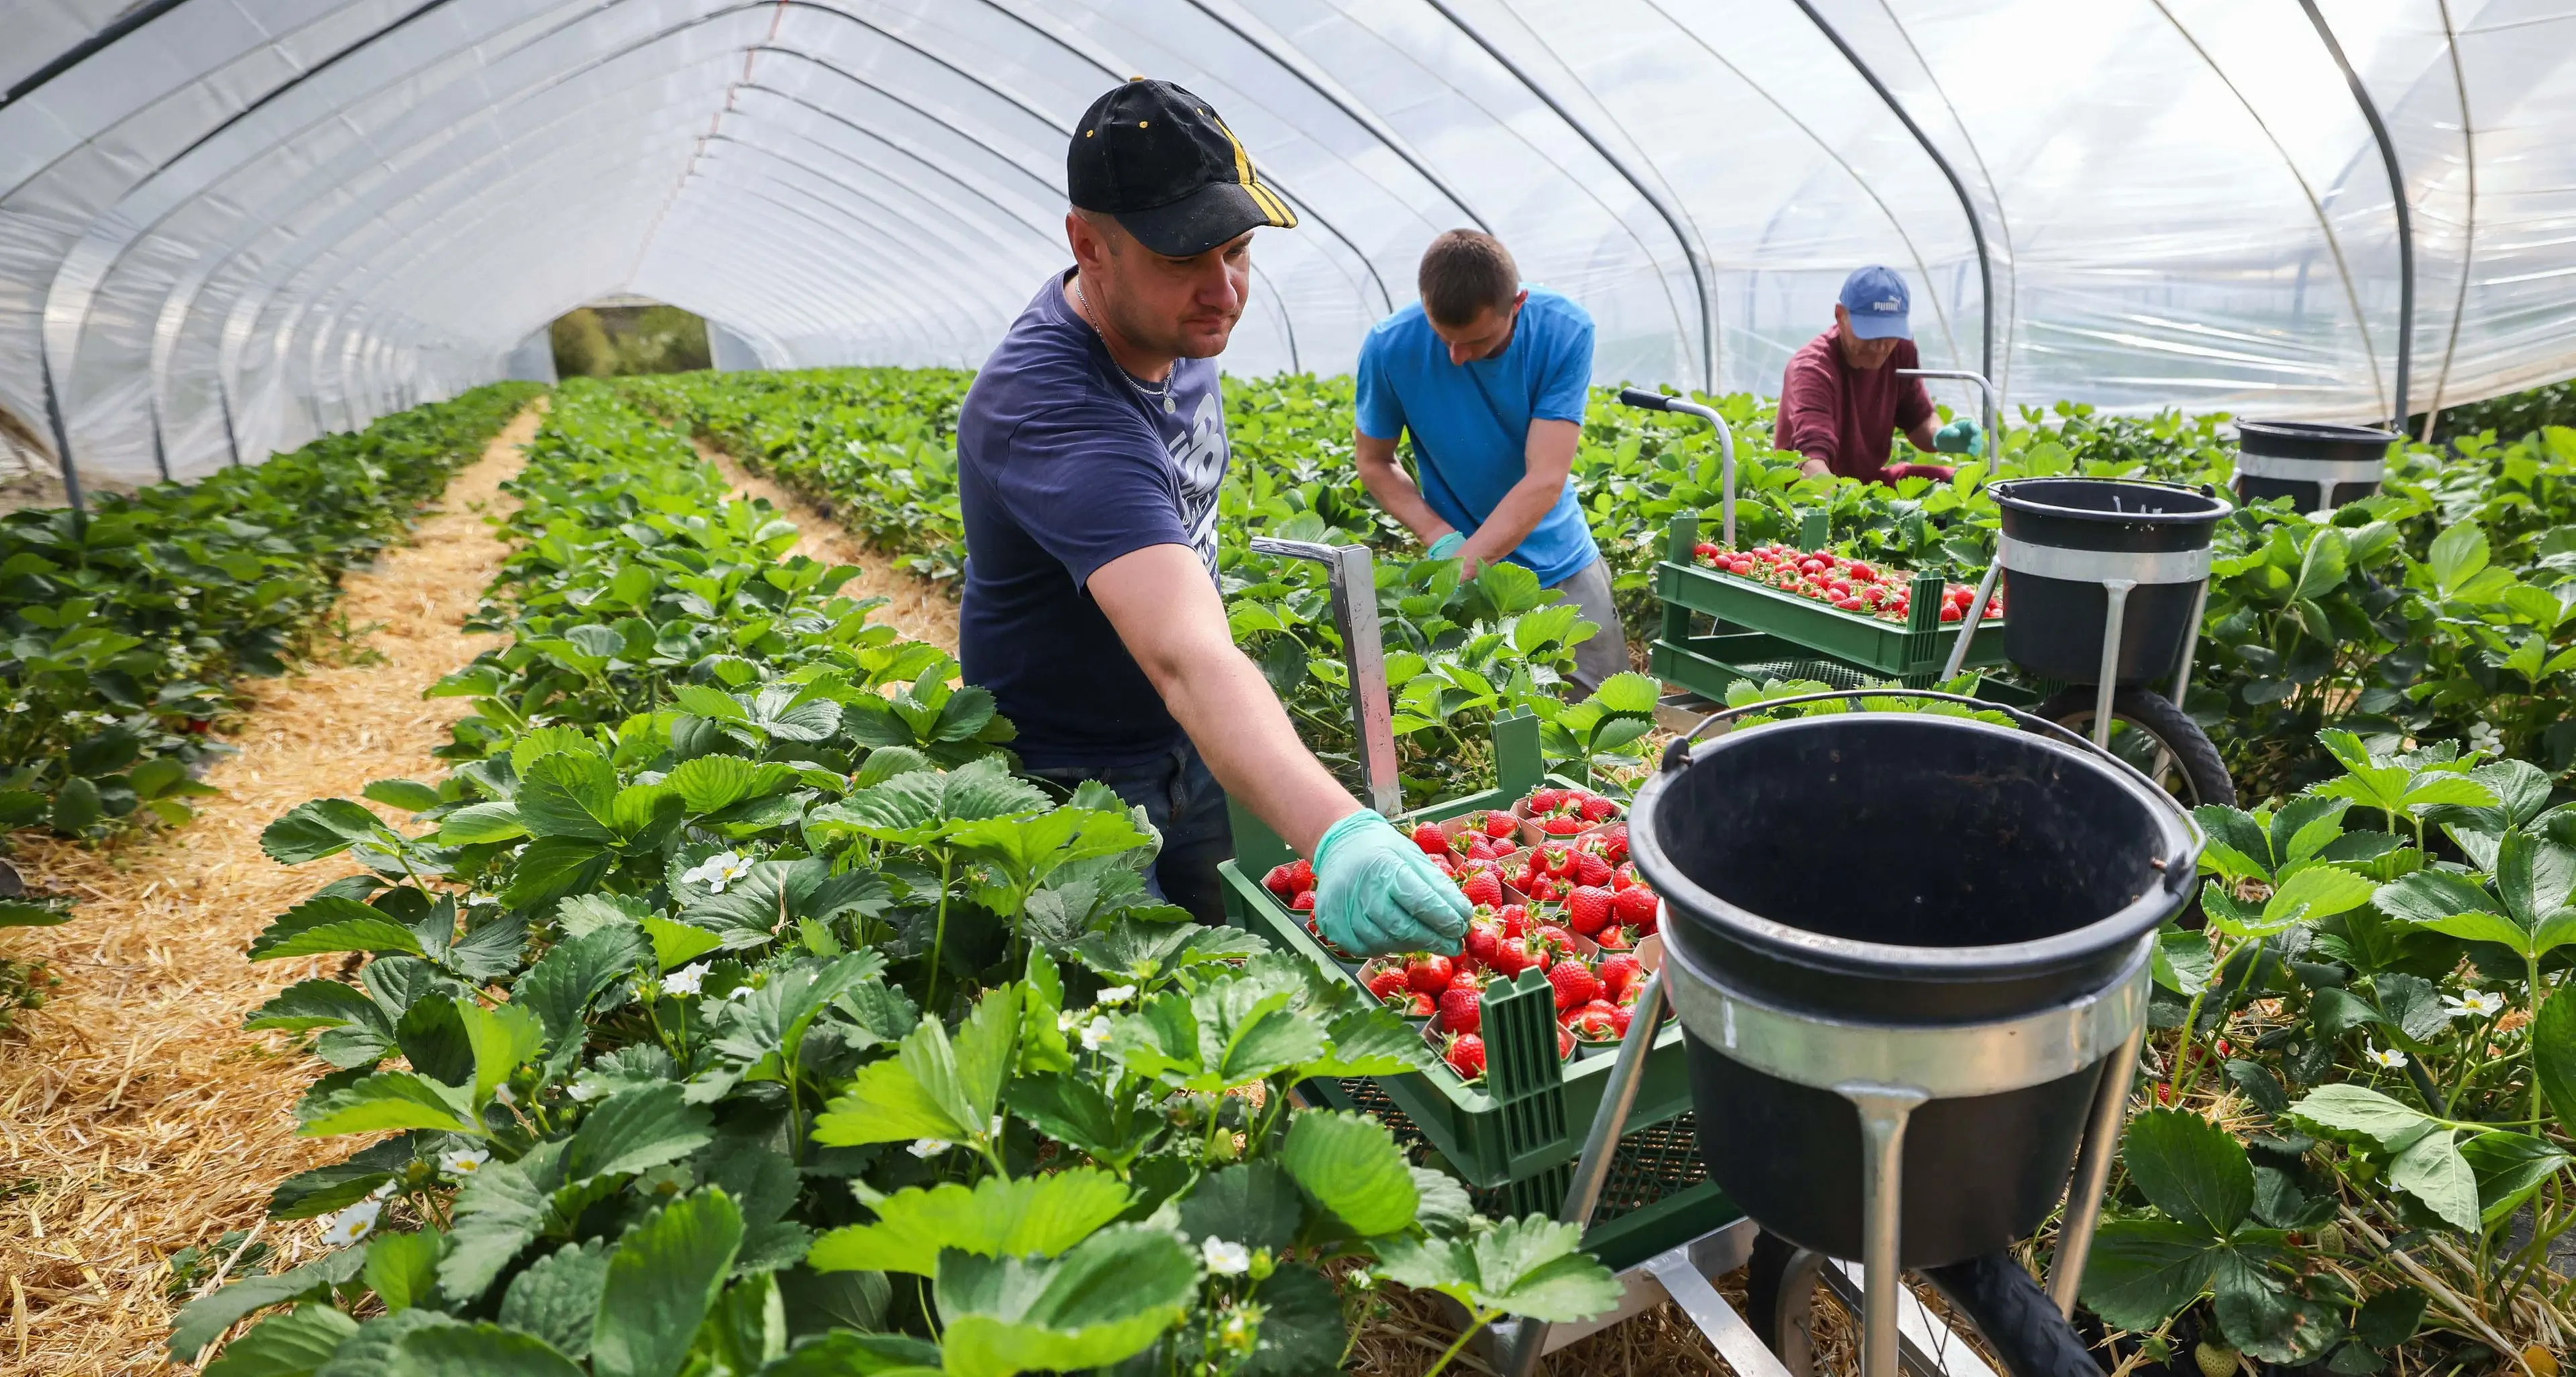
[[[1700,744],[1638,793],[1628,844],[1664,896],[1667,960],[1888,1037],[2117,983],[2197,865],[2179,808],[2133,772],[1919,713],[1801,718]],[[1731,1060],[1687,1017],[1685,1032],[1708,1174],[1762,1228],[1857,1259],[1852,1102]],[[2038,1228],[2066,1189],[2099,1073],[1914,1109],[1906,1266],[1991,1253]]]

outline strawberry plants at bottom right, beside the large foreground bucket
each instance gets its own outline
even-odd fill
[[[2197,811],[2208,929],[2159,937],[2156,1107],[2084,1300],[2202,1372],[2555,1372],[2576,803],[2455,741],[2321,746],[2331,780]]]

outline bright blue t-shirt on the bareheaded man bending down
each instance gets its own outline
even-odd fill
[[[1458,530],[1484,525],[1528,476],[1533,420],[1584,422],[1592,317],[1543,286],[1528,291],[1499,358],[1450,363],[1419,301],[1360,342],[1360,432],[1394,440],[1412,430],[1422,499]],[[1548,587],[1600,559],[1571,481],[1510,559]]]

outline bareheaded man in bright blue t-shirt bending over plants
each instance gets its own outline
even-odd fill
[[[1574,646],[1582,690],[1628,669],[1610,569],[1574,502],[1574,448],[1592,389],[1592,317],[1520,286],[1499,239],[1450,229],[1422,250],[1422,301],[1360,342],[1360,481],[1437,559],[1468,574],[1507,559],[1561,589],[1600,631]],[[1412,432],[1414,484],[1396,463]]]

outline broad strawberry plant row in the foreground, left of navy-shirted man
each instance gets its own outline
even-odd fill
[[[1236,1372],[1337,1367],[1370,1284],[1476,1323],[1618,1287],[1481,1220],[1311,1076],[1425,1042],[1144,883],[1100,785],[1012,775],[992,700],[850,569],[608,389],[513,484],[510,643],[446,780],[278,818],[350,857],[252,945],[366,952],[250,1017],[335,1071],[278,1187],[332,1251],[183,1310],[240,1372]],[[399,1063],[397,1063],[399,1058]]]

